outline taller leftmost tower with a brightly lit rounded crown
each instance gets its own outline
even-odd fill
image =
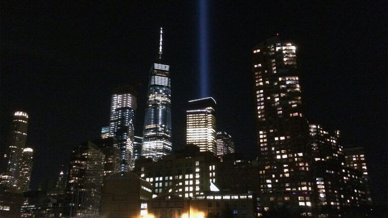
[[[17,111],[11,125],[6,151],[2,161],[2,175],[0,185],[11,191],[21,191],[19,184],[24,184],[28,178],[20,178],[20,170],[23,162],[23,149],[27,140],[28,114]],[[26,151],[27,152],[27,151]],[[26,153],[27,154],[27,153]],[[19,179],[23,181],[19,181]]]

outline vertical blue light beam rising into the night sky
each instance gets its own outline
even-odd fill
[[[201,98],[209,96],[208,6],[200,0],[200,87]]]

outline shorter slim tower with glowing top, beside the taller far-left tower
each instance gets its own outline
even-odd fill
[[[32,169],[32,148],[23,148],[22,158],[20,163],[19,184],[18,189],[25,192],[30,187],[31,169]]]

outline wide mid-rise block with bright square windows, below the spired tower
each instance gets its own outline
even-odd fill
[[[216,162],[219,159],[209,151],[200,152],[195,145],[166,155],[158,161],[140,157],[133,173],[153,185],[156,195],[172,192],[188,198],[211,190],[216,181]]]

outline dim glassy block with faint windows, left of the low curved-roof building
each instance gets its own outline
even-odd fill
[[[86,141],[71,152],[66,185],[65,217],[99,217],[104,153]]]

